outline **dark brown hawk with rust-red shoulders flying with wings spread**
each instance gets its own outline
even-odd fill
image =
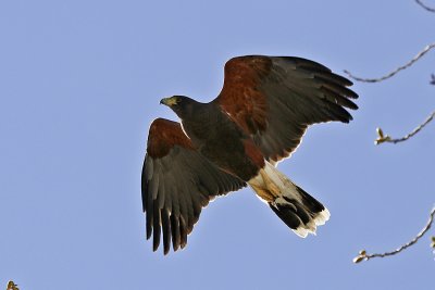
[[[352,83],[301,58],[231,59],[214,100],[164,98],[181,123],[152,122],[141,175],[147,239],[153,251],[183,249],[202,207],[247,185],[299,237],[315,234],[327,209],[276,168],[291,155],[307,127],[348,123],[358,94]]]

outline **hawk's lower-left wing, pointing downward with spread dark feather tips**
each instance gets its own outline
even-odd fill
[[[171,239],[174,251],[183,249],[201,209],[214,197],[245,186],[200,155],[178,123],[163,118],[152,122],[141,191],[147,239],[153,236],[154,251],[160,244],[161,230],[164,254],[171,248]]]

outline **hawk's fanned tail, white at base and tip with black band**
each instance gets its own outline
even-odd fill
[[[272,164],[249,180],[257,196],[299,237],[315,235],[318,226],[330,219],[330,211],[303,189],[291,182]]]

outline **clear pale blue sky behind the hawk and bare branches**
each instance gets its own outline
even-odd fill
[[[427,4],[435,5],[434,1]],[[356,84],[349,125],[312,127],[279,169],[331,220],[300,239],[245,189],[211,203],[185,250],[145,240],[148,127],[162,97],[217,96],[226,60],[297,55],[381,76],[434,42],[413,0],[0,1],[0,289],[433,289],[435,52],[382,84]],[[434,235],[434,231],[431,232]]]

